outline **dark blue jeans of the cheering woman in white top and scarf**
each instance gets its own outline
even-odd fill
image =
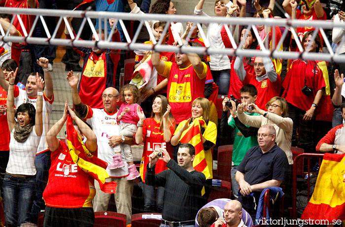
[[[5,174],[3,179],[3,202],[6,227],[20,226],[30,222],[30,212],[35,194],[36,176],[13,177]]]

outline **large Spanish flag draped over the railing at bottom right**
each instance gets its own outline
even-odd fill
[[[345,220],[345,154],[326,153],[301,219]]]

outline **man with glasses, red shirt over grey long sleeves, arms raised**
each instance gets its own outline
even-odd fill
[[[268,57],[256,57],[254,60],[254,72],[246,72],[243,65],[243,57],[238,56],[235,60],[234,69],[243,85],[252,84],[258,90],[256,104],[260,109],[265,109],[266,103],[272,98],[279,96],[281,77],[276,73],[273,62]]]

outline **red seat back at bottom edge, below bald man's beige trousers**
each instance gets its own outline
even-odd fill
[[[110,211],[95,212],[94,227],[126,227],[126,217],[124,214]]]

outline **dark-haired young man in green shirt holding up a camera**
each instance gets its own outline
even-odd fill
[[[257,89],[252,84],[246,84],[240,89],[241,102],[255,103],[257,98]],[[229,106],[231,104],[231,106]],[[247,153],[247,151],[258,145],[256,135],[258,128],[249,127],[244,125],[237,117],[236,114],[237,105],[234,100],[229,100],[228,97],[223,100],[223,114],[220,122],[220,130],[222,132],[229,133],[235,129],[234,151],[232,155],[232,167],[231,167],[231,182],[232,189],[235,198],[238,198],[240,186],[237,184],[235,175],[239,164]],[[230,117],[228,119],[228,111],[230,111]],[[260,115],[257,113],[245,112],[248,115]]]

